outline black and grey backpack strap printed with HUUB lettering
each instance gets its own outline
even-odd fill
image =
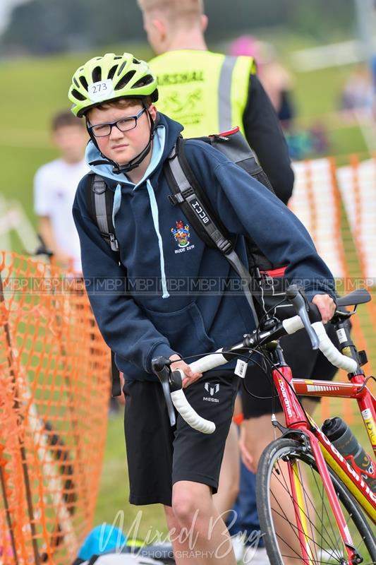
[[[218,249],[236,270],[241,278],[243,292],[257,325],[258,317],[250,292],[253,287],[253,278],[236,254],[234,245],[226,234],[226,228],[211,210],[212,207],[202,187],[188,165],[183,147],[183,138],[179,137],[169,158],[164,162],[166,179],[174,193],[169,196],[169,200],[173,206],[176,204],[181,206],[183,213],[190,220],[200,238],[208,246]]]

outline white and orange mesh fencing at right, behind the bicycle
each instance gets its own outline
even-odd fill
[[[291,209],[312,235],[317,250],[336,278],[339,294],[368,288],[372,302],[351,318],[353,340],[366,350],[366,376],[376,370],[376,160],[346,167],[333,158],[298,162]],[[346,381],[344,371],[336,379]],[[368,381],[376,393],[374,381]],[[358,407],[353,400],[322,398],[320,420],[342,415],[351,423]],[[317,418],[319,420],[319,417]]]

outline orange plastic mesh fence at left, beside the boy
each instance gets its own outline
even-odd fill
[[[109,350],[81,280],[0,263],[0,562],[67,565],[92,527]]]

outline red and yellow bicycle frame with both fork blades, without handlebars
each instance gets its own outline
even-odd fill
[[[351,467],[346,458],[341,456],[334,445],[322,433],[320,428],[315,424],[310,416],[305,415],[301,404],[296,398],[296,394],[304,396],[334,396],[356,398],[360,408],[360,412],[368,431],[368,436],[373,450],[375,451],[376,441],[376,399],[368,390],[363,374],[357,374],[352,377],[351,383],[332,383],[328,381],[310,381],[293,379],[290,367],[281,365],[272,371],[274,386],[277,388],[281,405],[284,410],[286,419],[286,427],[289,430],[301,432],[301,439],[305,439],[310,444],[317,463],[317,469],[320,472],[325,490],[329,498],[330,504],[334,511],[336,523],[341,532],[342,539],[348,551],[348,557],[351,559],[356,554],[353,548],[353,542],[349,535],[344,516],[341,512],[339,501],[336,497],[332,481],[325,461],[338,475],[341,481],[346,484],[348,490],[353,494],[360,506],[368,514],[370,519],[376,524],[376,494],[372,493],[368,484],[358,475],[358,472]],[[289,384],[288,384],[289,383]],[[295,394],[296,393],[296,394]],[[289,432],[287,432],[289,433]],[[376,463],[374,465],[376,468]],[[289,467],[289,477],[291,488],[294,490],[294,500],[298,500],[300,493],[294,481],[294,469]],[[299,505],[294,504],[296,521],[298,524],[299,537],[301,538],[301,547],[303,549],[303,563],[310,563],[310,554],[305,537],[304,516],[302,515]],[[351,560],[349,562],[352,562]]]

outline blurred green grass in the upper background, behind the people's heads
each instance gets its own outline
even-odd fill
[[[124,47],[110,46],[121,52]],[[139,57],[150,57],[145,46],[128,46]],[[1,86],[1,194],[17,198],[26,213],[32,215],[32,178],[40,165],[56,157],[49,140],[51,116],[68,108],[67,92],[71,76],[83,61],[98,52],[83,52],[40,59],[0,61]],[[341,85],[351,67],[324,69],[295,76],[296,106],[299,119],[312,124],[324,123],[327,114],[336,109]],[[20,86],[22,85],[22,86]],[[329,129],[330,153],[347,155],[364,153],[365,142],[356,126]],[[15,242],[17,248],[17,242]],[[18,249],[20,250],[20,249]]]

